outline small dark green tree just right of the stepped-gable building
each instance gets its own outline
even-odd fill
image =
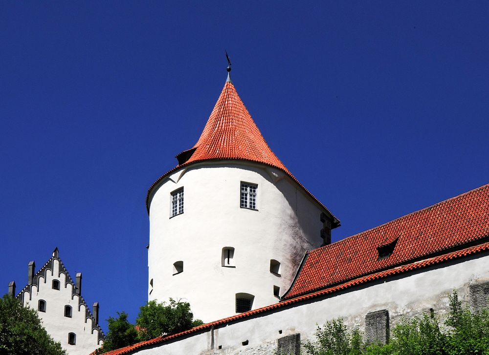
[[[109,332],[104,340],[102,349],[98,350],[98,354],[102,354],[111,350],[123,348],[137,342],[137,332],[133,324],[128,320],[126,312],[117,312],[117,318],[109,317],[107,319]]]

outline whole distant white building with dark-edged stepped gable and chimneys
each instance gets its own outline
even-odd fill
[[[93,303],[90,312],[82,297],[82,273],[73,281],[58,248],[41,269],[35,268],[36,263],[29,262],[25,287],[16,295],[12,281],[8,293],[38,312],[46,332],[61,342],[69,355],[86,355],[100,347],[104,333],[98,325],[99,305]]]

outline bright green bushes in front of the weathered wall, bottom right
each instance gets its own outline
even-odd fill
[[[365,344],[358,330],[349,332],[341,319],[316,331],[317,341],[303,344],[311,355],[489,355],[489,310],[472,313],[458,294],[449,296],[446,332],[433,313],[403,318],[392,330],[389,344]]]

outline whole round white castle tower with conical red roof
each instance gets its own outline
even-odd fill
[[[183,299],[204,322],[278,302],[339,226],[268,147],[229,75],[177,159],[146,199],[149,300]]]

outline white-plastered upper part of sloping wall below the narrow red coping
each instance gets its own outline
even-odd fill
[[[420,315],[433,308],[442,318],[446,315],[448,295],[456,288],[459,298],[468,302],[468,287],[473,281],[489,280],[489,253],[456,264],[442,264],[438,269],[421,273],[401,274],[399,278],[367,285],[330,298],[316,298],[292,308],[263,313],[256,318],[240,320],[214,330],[214,349],[211,332],[182,338],[173,343],[141,350],[144,355],[178,354],[256,354],[273,355],[277,339],[300,333],[301,340],[314,340],[316,324],[342,317],[349,327],[365,327],[365,314],[387,309],[391,328],[402,315]],[[279,331],[282,334],[279,334]],[[248,340],[248,345],[242,342]],[[219,346],[221,350],[218,350]]]

